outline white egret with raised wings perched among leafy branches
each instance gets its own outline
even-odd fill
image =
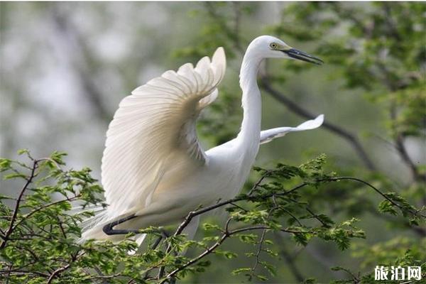
[[[261,143],[292,131],[315,129],[323,116],[299,126],[261,131],[261,92],[256,77],[266,58],[322,60],[290,48],[269,35],[254,39],[241,65],[244,118],[233,140],[203,151],[195,124],[217,97],[226,59],[217,48],[212,60],[167,71],[125,97],[107,131],[102,184],[109,206],[94,217],[82,239],[119,241],[129,231],[182,222],[189,212],[238,194]],[[184,233],[195,234],[199,216]],[[143,236],[138,241],[143,240]]]

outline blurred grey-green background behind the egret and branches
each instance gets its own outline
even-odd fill
[[[120,100],[152,77],[195,63],[221,45],[228,58],[226,77],[198,132],[205,148],[222,143],[239,131],[244,49],[256,36],[271,34],[326,64],[266,62],[263,86],[279,96],[261,90],[263,129],[296,126],[309,111],[325,114],[329,128],[340,132],[322,127],[289,134],[261,146],[256,165],[298,165],[326,153],[330,170],[368,178],[422,205],[425,13],[422,3],[1,2],[0,155],[16,158],[19,148],[37,157],[65,151],[68,165],[89,166],[100,178],[105,132]],[[283,104],[283,97],[295,106]],[[378,246],[376,253],[387,246],[392,258],[397,248],[425,239],[424,227],[416,231],[397,218],[374,214],[367,205],[379,199],[365,188],[339,185],[307,198],[336,216],[359,216],[368,238],[342,253],[324,242],[301,247],[280,237],[278,275],[271,283],[307,277],[327,282],[344,275],[331,266],[371,271],[380,256],[363,254],[362,246]],[[246,251],[239,246],[237,251]],[[368,253],[376,256],[371,263]],[[244,256],[221,260],[187,282],[234,283],[244,278],[229,271],[244,261]]]

